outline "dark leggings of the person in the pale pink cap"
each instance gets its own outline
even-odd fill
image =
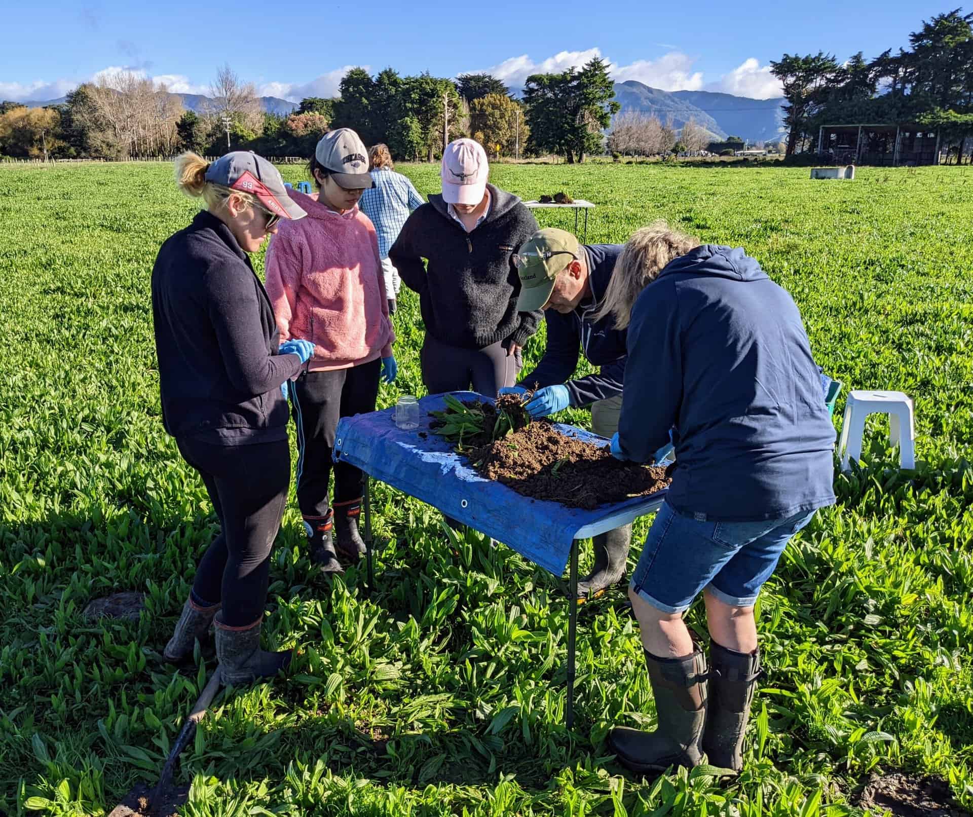
[[[448,391],[473,391],[486,397],[496,397],[504,386],[517,382],[521,371],[521,353],[507,354],[502,341],[483,349],[463,349],[450,346],[426,333],[419,353],[422,384],[430,394]]]

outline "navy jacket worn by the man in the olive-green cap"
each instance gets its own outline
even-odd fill
[[[588,260],[589,285],[592,297],[577,309],[561,314],[556,309],[544,310],[547,324],[547,348],[537,368],[523,376],[528,388],[534,383],[543,388],[563,383],[571,396],[572,406],[589,406],[595,401],[616,397],[622,393],[625,380],[626,332],[615,329],[615,319],[593,320],[611,280],[615,262],[623,244],[585,244]],[[594,366],[597,374],[568,380],[578,366],[578,351]],[[567,381],[567,382],[565,382]]]

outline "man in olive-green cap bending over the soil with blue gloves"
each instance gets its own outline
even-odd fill
[[[625,379],[626,332],[615,318],[595,319],[611,280],[621,244],[579,244],[570,232],[545,228],[530,236],[514,256],[520,271],[522,312],[544,310],[547,347],[537,368],[520,385],[500,393],[526,393],[539,386],[526,409],[546,417],[569,406],[592,408],[592,430],[601,437],[618,431]],[[596,374],[570,379],[578,366],[578,350],[600,367]],[[631,547],[631,524],[592,540],[595,567],[578,582],[578,596],[587,598],[625,578]]]

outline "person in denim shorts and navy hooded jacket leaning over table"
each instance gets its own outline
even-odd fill
[[[739,771],[760,674],[753,606],[788,540],[835,501],[835,429],[797,306],[741,248],[664,222],[636,231],[601,315],[628,327],[612,453],[649,462],[674,427],[675,472],[629,596],[656,700],[654,731],[616,727],[636,772]],[[709,669],[683,614],[700,592]]]

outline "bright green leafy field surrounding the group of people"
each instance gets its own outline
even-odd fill
[[[438,189],[435,167],[403,169]],[[286,680],[217,699],[183,754],[186,814],[815,817],[896,767],[973,806],[973,174],[808,175],[493,174],[526,198],[594,201],[591,242],[665,217],[742,244],[793,294],[827,372],[916,399],[917,471],[897,471],[876,423],[865,467],[836,478],[839,505],[761,597],[767,673],[739,780],[642,781],[606,757],[613,723],[654,720],[621,589],[582,608],[568,732],[558,580],[476,534],[453,549],[438,513],[379,486],[378,536],[393,544],[371,595],[356,569],[333,584],[309,570],[292,497],[265,632],[301,655]],[[215,522],[162,432],[149,298],[160,243],[194,209],[166,165],[0,166],[0,813],[107,812],[155,778],[204,677],[161,661]],[[403,300],[382,405],[421,393],[417,304]],[[81,616],[127,589],[146,594],[140,621]],[[689,621],[703,632],[699,607]]]

